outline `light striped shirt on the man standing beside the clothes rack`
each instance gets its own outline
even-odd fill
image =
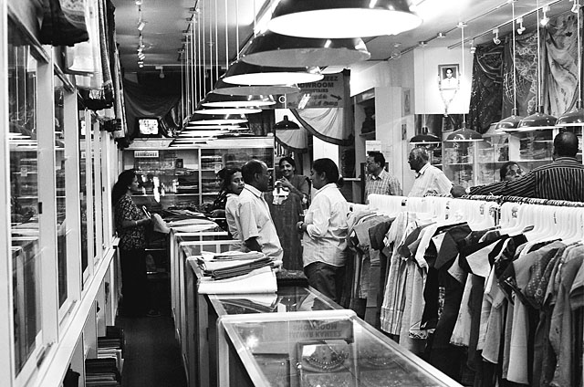
[[[304,267],[313,262],[345,266],[348,215],[349,204],[337,184],[328,183],[314,194],[305,218],[307,232],[303,237]]]

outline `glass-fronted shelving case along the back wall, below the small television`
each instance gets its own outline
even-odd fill
[[[137,205],[151,212],[168,208],[198,211],[219,193],[216,173],[257,159],[274,169],[274,138],[255,137],[209,141],[193,148],[152,148],[141,144],[123,152],[123,169],[139,174]]]

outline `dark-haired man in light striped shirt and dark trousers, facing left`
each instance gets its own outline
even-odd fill
[[[316,160],[310,180],[317,192],[305,221],[297,223],[304,234],[304,273],[311,287],[337,302],[346,263],[349,204],[339,191],[342,180],[332,160]]]

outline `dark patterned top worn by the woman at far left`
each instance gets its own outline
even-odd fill
[[[143,225],[122,228],[121,223],[124,220],[138,221],[144,216],[140,209],[131,200],[130,194],[126,193],[120,197],[115,208],[116,231],[120,236],[120,249],[131,250],[146,247],[146,229]]]

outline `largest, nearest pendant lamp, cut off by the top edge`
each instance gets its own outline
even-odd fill
[[[282,0],[267,27],[292,37],[378,37],[422,24],[407,0]]]

